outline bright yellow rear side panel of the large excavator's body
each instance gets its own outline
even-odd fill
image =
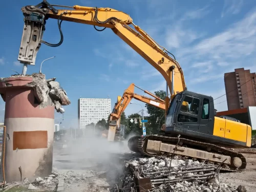
[[[251,146],[251,127],[244,123],[215,117],[214,135],[244,142],[246,146]]]

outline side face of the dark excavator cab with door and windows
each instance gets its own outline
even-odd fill
[[[212,97],[184,91],[178,99],[175,115],[176,127],[189,131],[212,135],[214,131],[214,101]],[[187,131],[186,131],[187,130]]]

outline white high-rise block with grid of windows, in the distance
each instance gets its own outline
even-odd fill
[[[108,120],[111,113],[111,99],[80,98],[78,99],[79,129],[101,119]]]

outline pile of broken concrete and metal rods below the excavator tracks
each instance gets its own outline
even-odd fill
[[[126,175],[111,191],[239,191],[220,183],[217,165],[191,159],[138,158],[127,161]],[[241,188],[242,186],[240,186]]]

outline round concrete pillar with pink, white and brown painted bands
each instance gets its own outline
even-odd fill
[[[25,84],[32,77],[10,77],[0,82],[7,130],[6,181],[45,177],[52,172],[54,106],[40,109],[34,89]]]

